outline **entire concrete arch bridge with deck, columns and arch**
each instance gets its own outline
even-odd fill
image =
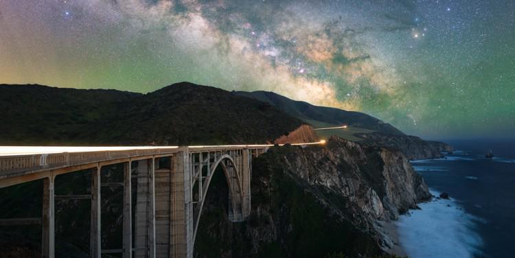
[[[319,143],[299,145],[308,144]],[[216,169],[222,168],[229,186],[229,220],[244,221],[251,212],[252,158],[271,146],[0,147],[0,188],[43,180],[41,217],[1,219],[0,229],[41,224],[42,257],[53,258],[55,200],[87,199],[91,200],[91,257],[107,253],[121,253],[124,258],[192,257]],[[102,182],[103,168],[115,164],[123,165],[123,180]],[[91,171],[91,193],[56,195],[56,178],[84,169]],[[102,187],[123,191],[122,246],[117,249],[102,249]]]

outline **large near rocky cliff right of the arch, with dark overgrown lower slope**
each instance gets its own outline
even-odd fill
[[[209,189],[196,257],[381,255],[391,239],[377,220],[431,198],[401,152],[339,138],[324,147],[271,148],[253,161],[251,191],[251,217],[231,224],[226,192]]]

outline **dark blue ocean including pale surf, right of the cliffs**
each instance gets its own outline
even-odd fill
[[[515,140],[446,141],[446,159],[412,161],[431,193],[397,222],[409,257],[515,257]],[[492,150],[494,159],[485,159]]]

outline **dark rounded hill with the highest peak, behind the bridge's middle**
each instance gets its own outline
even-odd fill
[[[301,124],[264,102],[180,83],[137,99],[108,123],[113,130],[99,130],[93,136],[115,143],[141,139],[168,145],[264,143]]]

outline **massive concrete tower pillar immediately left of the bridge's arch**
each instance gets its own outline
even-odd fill
[[[193,203],[187,148],[172,160],[172,200],[170,205],[170,258],[193,257]]]

